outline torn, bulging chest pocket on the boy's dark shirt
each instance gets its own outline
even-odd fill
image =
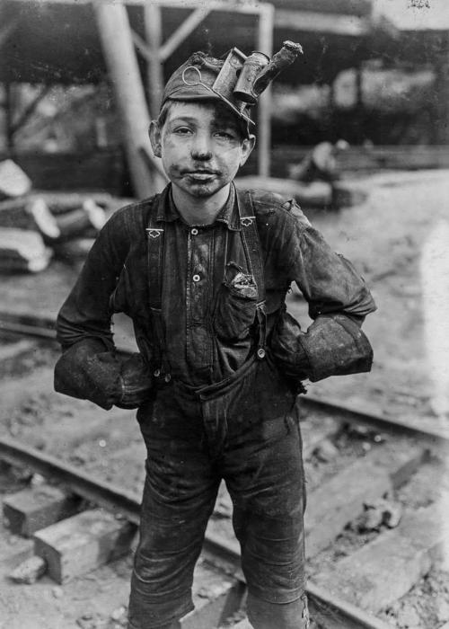
[[[242,341],[250,335],[256,318],[258,289],[251,274],[229,262],[218,290],[214,310],[214,330],[222,341]]]

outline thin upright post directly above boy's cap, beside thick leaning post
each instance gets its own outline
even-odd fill
[[[162,45],[161,7],[157,4],[144,6],[145,40],[148,52],[148,102],[152,118],[156,118],[163,93],[163,65],[159,57]]]

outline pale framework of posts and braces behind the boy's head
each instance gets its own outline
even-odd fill
[[[23,4],[27,0],[14,0]],[[257,31],[253,46],[271,56],[273,52],[274,6],[259,2],[225,2],[211,0],[41,0],[42,4],[86,5],[91,4],[95,14],[101,47],[113,79],[116,99],[125,131],[125,147],[128,164],[138,196],[148,196],[161,188],[166,181],[162,168],[145,145],[146,128],[150,117],[157,115],[163,90],[163,64],[172,56],[198,25],[212,12],[242,13],[254,15]],[[141,6],[144,13],[143,38],[132,30],[126,13],[127,6]],[[191,9],[187,18],[163,41],[162,9]],[[14,18],[0,28],[0,45],[9,39],[19,24]],[[132,42],[130,46],[130,42]],[[138,52],[146,63],[146,81],[143,82],[136,60]],[[145,94],[144,83],[147,85]],[[127,96],[128,93],[128,96]],[[132,94],[132,99],[129,98]],[[43,95],[43,94],[42,94]],[[5,110],[9,148],[13,148],[13,134],[28,120],[41,96],[32,103],[19,120],[13,121],[13,102],[6,86]],[[269,151],[271,95],[268,88],[258,104],[258,166],[261,176],[269,175]],[[144,131],[144,132],[143,132]],[[139,140],[140,137],[140,140]],[[144,155],[144,156],[143,156]],[[148,177],[151,166],[151,178]]]

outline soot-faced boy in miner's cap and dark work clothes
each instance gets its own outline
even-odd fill
[[[245,103],[276,74],[279,53],[255,70],[245,61],[236,49],[225,61],[195,53],[172,75],[150,128],[170,184],[111,217],[58,316],[57,390],[138,407],[148,456],[130,629],[180,627],[192,609],[222,478],[251,624],[308,626],[296,393],[305,377],[371,364],[363,280],[295,202],[233,186],[255,142]],[[250,96],[237,98],[243,79]],[[294,280],[314,320],[307,332],[285,312]],[[132,318],[140,351],[124,363],[114,312]]]

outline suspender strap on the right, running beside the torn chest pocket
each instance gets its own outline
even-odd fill
[[[259,359],[265,357],[265,345],[267,337],[267,311],[265,307],[265,273],[263,269],[262,251],[260,247],[259,232],[257,229],[254,205],[252,203],[251,192],[237,190],[237,203],[240,213],[240,223],[242,226],[242,244],[245,250],[248,266],[257,284],[259,301],[256,308],[259,323],[259,341],[257,356]]]

